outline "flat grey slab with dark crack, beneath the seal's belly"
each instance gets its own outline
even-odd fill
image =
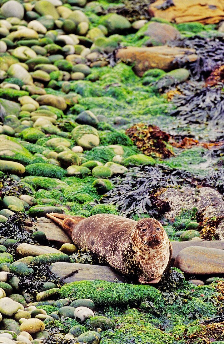
[[[96,279],[107,282],[115,282],[115,280],[119,280],[121,282],[125,281],[121,275],[118,275],[111,268],[101,265],[53,263],[51,271],[65,283],[83,280],[91,281]]]

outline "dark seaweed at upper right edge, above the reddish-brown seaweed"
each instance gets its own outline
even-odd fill
[[[198,60],[194,62],[179,62],[182,67],[190,70],[194,80],[204,80],[219,65],[223,64],[223,37],[206,38],[201,36],[186,37],[183,40],[173,40],[171,46],[195,49]]]

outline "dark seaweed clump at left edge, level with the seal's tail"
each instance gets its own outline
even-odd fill
[[[25,213],[17,212],[9,216],[7,222],[0,223],[0,237],[2,239],[10,238],[18,240],[18,245],[22,243],[37,244],[32,237],[32,233],[29,233],[24,226],[28,225],[27,219],[34,221]]]

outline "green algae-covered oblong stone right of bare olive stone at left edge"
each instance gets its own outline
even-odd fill
[[[61,179],[66,175],[66,171],[57,166],[47,163],[36,163],[26,166],[26,173],[29,175],[36,175],[42,177]]]

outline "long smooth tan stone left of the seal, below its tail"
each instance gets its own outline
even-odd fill
[[[61,251],[57,250],[56,248],[52,248],[49,246],[42,246],[42,245],[31,245],[31,244],[20,244],[16,252],[22,257],[28,256],[40,256],[46,253],[60,253]]]

